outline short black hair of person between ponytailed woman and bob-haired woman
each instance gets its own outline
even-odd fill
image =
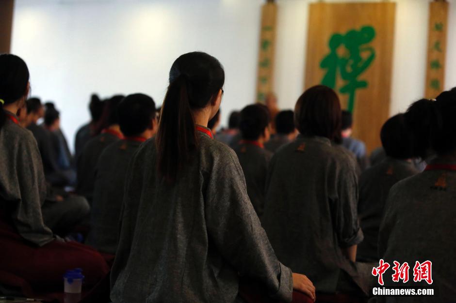
[[[258,140],[264,129],[269,125],[269,110],[261,104],[245,106],[241,110],[241,130],[242,138],[246,140]]]

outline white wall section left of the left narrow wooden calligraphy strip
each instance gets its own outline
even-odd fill
[[[53,100],[73,143],[92,92],[163,101],[179,55],[202,50],[225,67],[222,119],[255,100],[261,0],[17,0],[12,53],[32,94]]]

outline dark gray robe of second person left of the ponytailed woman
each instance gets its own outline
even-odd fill
[[[76,192],[92,203],[95,186],[95,169],[98,158],[111,143],[120,140],[110,133],[102,133],[90,139],[77,159]]]

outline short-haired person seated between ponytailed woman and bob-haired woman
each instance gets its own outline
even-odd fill
[[[266,106],[254,104],[241,111],[242,140],[234,151],[244,172],[248,197],[259,217],[263,213],[266,175],[272,157],[272,152],[264,149],[264,143],[270,137],[270,127]]]

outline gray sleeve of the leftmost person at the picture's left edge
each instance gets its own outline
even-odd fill
[[[19,234],[39,246],[54,240],[44,224],[41,205],[46,197],[46,182],[41,157],[35,140],[23,140],[17,157],[19,201],[13,212],[13,222]]]

